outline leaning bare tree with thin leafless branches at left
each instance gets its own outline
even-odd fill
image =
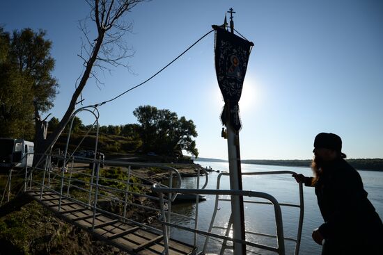
[[[100,83],[96,75],[97,69],[110,71],[112,67],[120,65],[128,67],[123,63],[123,60],[132,56],[132,51],[125,44],[123,35],[132,30],[132,23],[125,22],[123,17],[142,1],[146,0],[86,0],[91,7],[88,19],[94,22],[97,27],[96,38],[92,40],[90,38],[91,31],[88,30],[86,22],[80,22],[84,40],[79,57],[84,60],[84,72],[79,78],[79,83],[72,95],[65,115],[52,134],[46,137],[44,131],[47,129],[46,122],[36,126],[36,129],[42,130],[41,135],[38,135],[35,139],[36,153],[44,153],[61,134],[70,120],[70,116],[75,111],[77,100],[88,79],[93,77],[96,79],[97,84]]]

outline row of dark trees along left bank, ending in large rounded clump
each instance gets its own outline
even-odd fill
[[[196,148],[196,126],[192,120],[168,109],[158,109],[155,106],[139,106],[133,111],[138,124],[104,125],[99,127],[102,135],[120,135],[130,140],[138,140],[138,149],[143,153],[154,152],[158,155],[180,157],[182,150],[198,157]],[[52,117],[49,120],[48,131],[57,128],[59,120]],[[65,129],[68,132],[68,126]],[[91,129],[92,125],[84,125],[81,119],[74,117],[72,133],[81,133]],[[94,133],[94,131],[93,131]]]

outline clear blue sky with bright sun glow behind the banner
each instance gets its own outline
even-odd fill
[[[244,80],[240,115],[242,159],[310,159],[320,132],[341,136],[347,158],[383,158],[383,1],[380,0],[153,0],[124,19],[134,50],[124,67],[88,81],[84,105],[115,97],[148,79],[187,49],[233,8],[235,29],[254,42]],[[85,1],[1,1],[6,31],[47,31],[60,85],[54,108],[59,119],[82,71],[79,20]],[[94,31],[94,24],[88,28]],[[100,124],[136,123],[133,110],[150,105],[193,120],[196,147],[204,158],[227,159],[221,138],[224,101],[214,70],[210,33],[155,79],[100,106]],[[48,114],[45,113],[45,116]],[[91,115],[79,115],[84,124]]]

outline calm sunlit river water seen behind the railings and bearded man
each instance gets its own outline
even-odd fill
[[[228,172],[228,163],[217,163],[201,161],[196,163],[203,167],[212,167],[213,170]],[[289,170],[297,173],[302,173],[305,176],[311,176],[312,172],[309,167],[282,167],[272,165],[251,165],[242,164],[242,173],[244,172],[263,172],[263,171],[283,171]],[[361,178],[364,182],[364,188],[368,192],[368,199],[373,203],[377,213],[383,218],[383,172],[376,171],[359,171]],[[217,176],[219,173],[212,172],[208,176],[208,189],[217,188]],[[205,182],[205,177],[200,179],[200,183]],[[196,188],[197,178],[187,177],[182,179],[182,188]],[[267,192],[274,196],[279,203],[299,204],[299,186],[292,178],[290,174],[281,175],[267,175],[267,176],[242,176],[242,186],[244,190],[253,190],[259,192]],[[221,177],[220,189],[229,189],[229,177]],[[208,230],[212,213],[214,209],[215,196],[205,196],[206,201],[202,201],[198,205],[198,229]],[[245,198],[246,200],[247,198]],[[194,217],[195,215],[195,203],[183,203],[173,204],[172,211]],[[283,232],[285,237],[296,238],[297,226],[299,220],[299,208],[282,206],[283,217]],[[214,226],[226,227],[228,224],[228,218],[230,217],[230,202],[219,201],[219,211],[217,213]],[[268,233],[275,235],[275,223],[274,223],[274,209],[270,205],[263,204],[245,204],[244,205],[244,217],[245,226],[247,231],[253,231],[258,233]],[[194,227],[194,222],[182,217],[173,216],[172,222],[182,224],[186,227]],[[302,242],[299,249],[299,254],[320,254],[321,246],[317,245],[311,239],[311,232],[322,224],[322,216],[318,208],[318,204],[315,197],[314,189],[311,187],[304,187],[304,223],[302,230]],[[214,233],[224,234],[224,230],[215,229]],[[172,229],[171,237],[182,240],[184,242],[192,243],[194,235],[185,231],[178,231]],[[276,247],[276,239],[268,237],[260,237],[247,234],[247,240],[257,242],[264,245]],[[198,236],[197,245],[201,250],[205,238]],[[286,240],[286,254],[294,254],[295,242]],[[219,253],[219,247],[221,243],[215,240],[211,240],[208,244],[207,252]],[[265,250],[256,249],[253,247],[247,247],[252,252],[248,254],[275,254],[273,252],[267,252]],[[231,254],[230,251],[226,251],[225,254]]]

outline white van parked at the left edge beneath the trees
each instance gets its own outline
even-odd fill
[[[31,167],[33,151],[33,142],[14,138],[0,138],[0,168]]]

